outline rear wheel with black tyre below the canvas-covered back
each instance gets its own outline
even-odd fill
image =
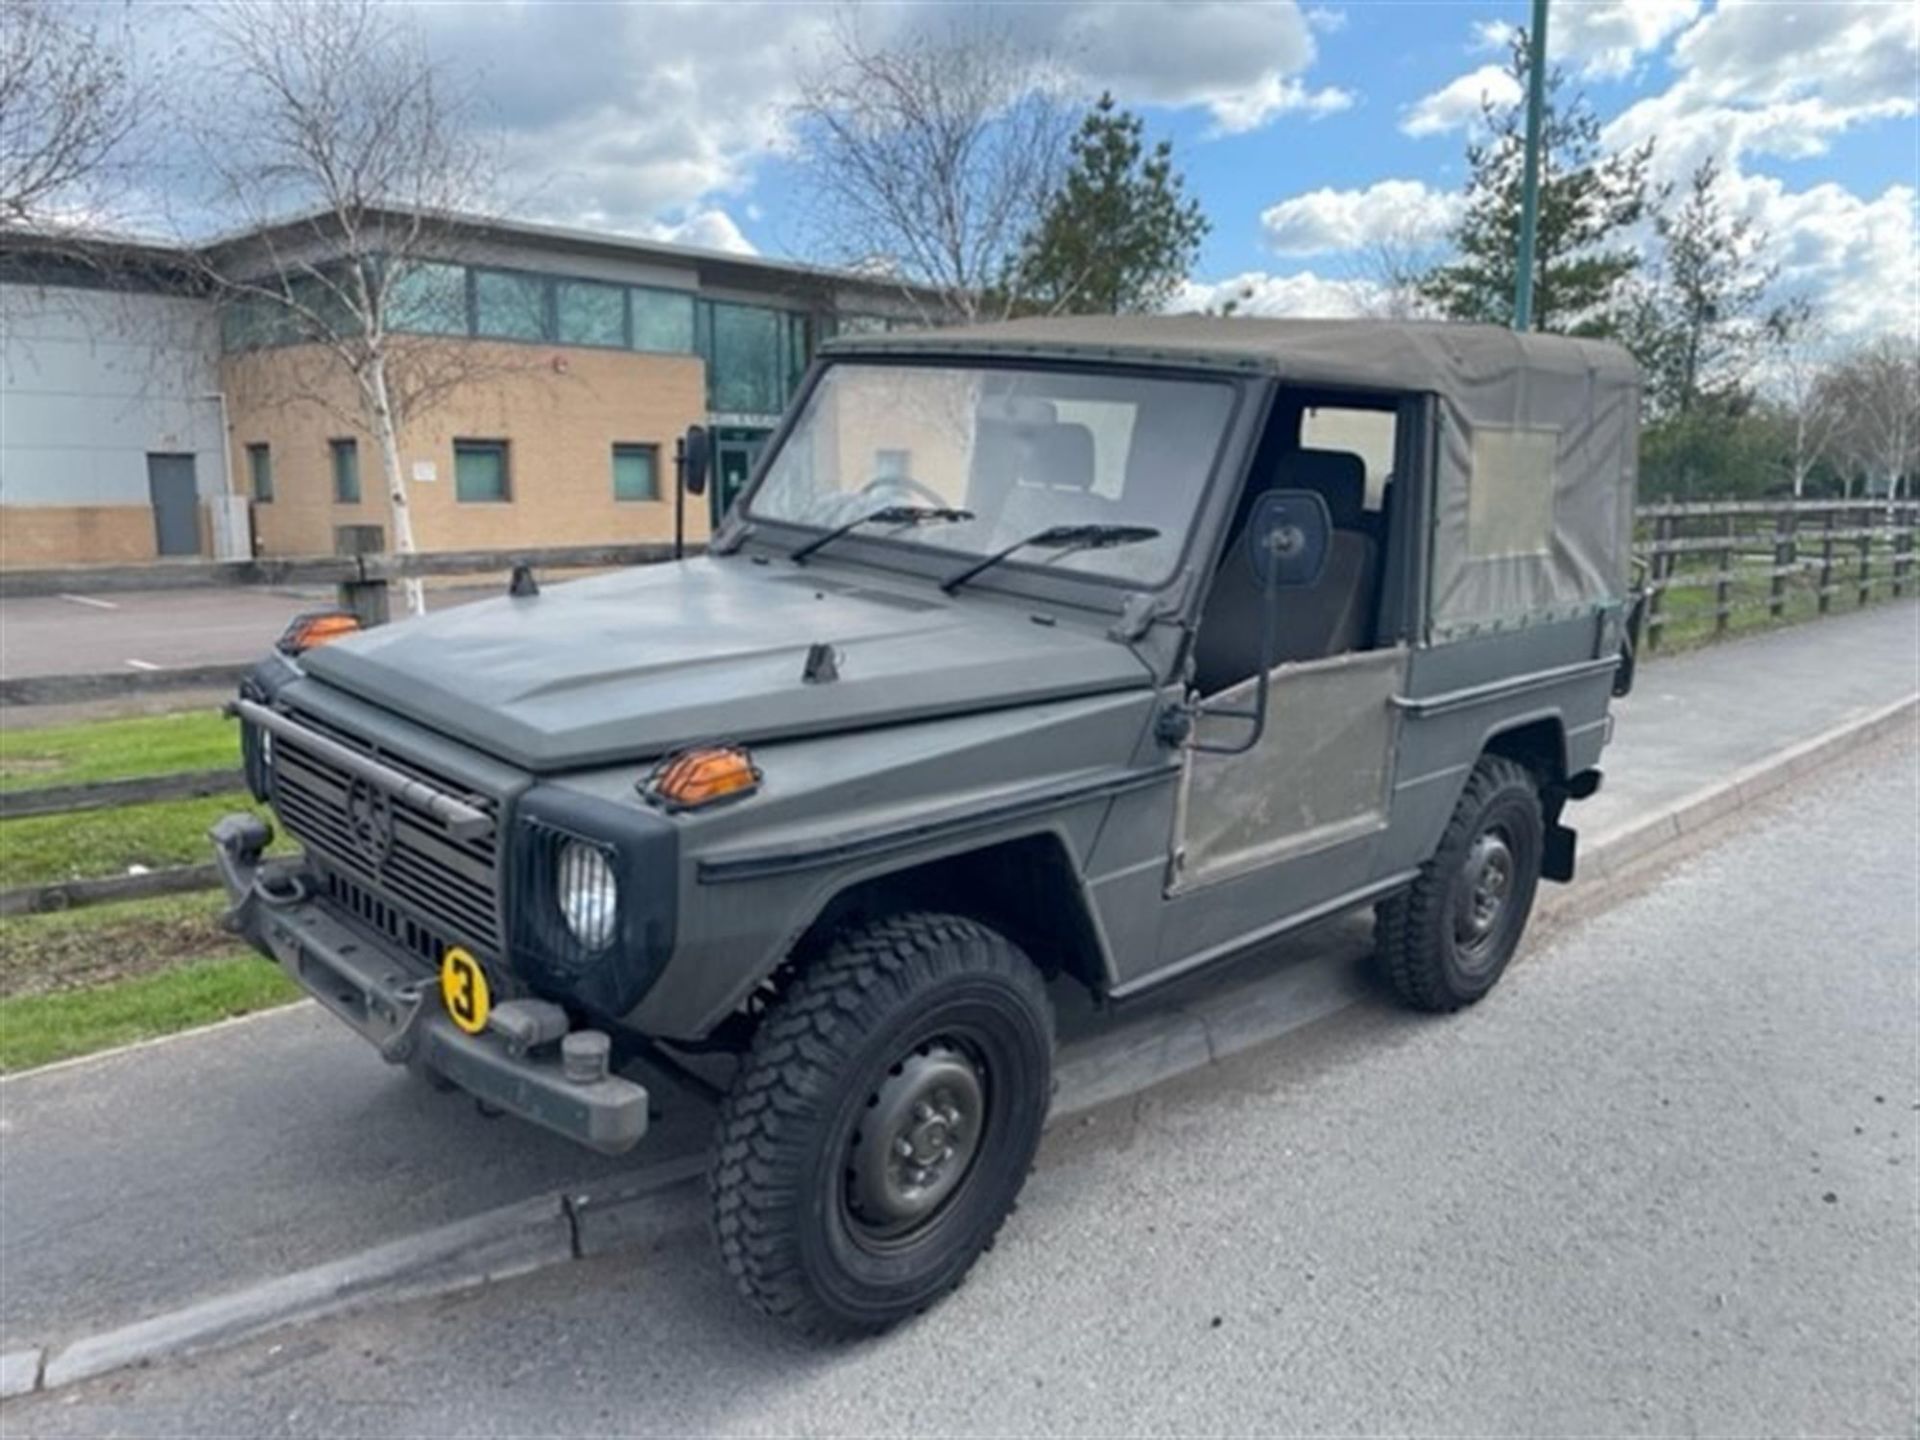
[[[1540,885],[1540,789],[1500,755],[1475,764],[1440,849],[1405,891],[1375,910],[1375,945],[1415,1010],[1480,1000],[1507,970]]]

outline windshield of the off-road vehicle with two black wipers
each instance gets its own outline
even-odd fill
[[[935,365],[833,365],[747,499],[747,516],[831,530],[874,511],[968,511],[860,534],[981,557],[1054,526],[1142,526],[1037,564],[1154,586],[1173,574],[1233,409],[1219,380]]]

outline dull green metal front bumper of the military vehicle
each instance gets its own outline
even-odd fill
[[[434,1069],[486,1104],[603,1154],[647,1133],[647,1091],[618,1075],[568,1079],[555,1044],[520,1052],[503,1035],[467,1035],[440,1006],[440,977],[415,956],[349,925],[315,899],[300,860],[263,860],[271,829],[252,814],[213,826],[227,887],[225,924],[303,991],[371,1041],[390,1064]]]

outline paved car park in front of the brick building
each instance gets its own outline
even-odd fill
[[[430,589],[426,607],[499,588]],[[259,659],[296,614],[328,605],[332,591],[259,586],[8,599],[0,601],[0,680],[242,664]]]

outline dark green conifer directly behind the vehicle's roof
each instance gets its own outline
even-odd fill
[[[1185,194],[1173,146],[1146,148],[1139,115],[1102,94],[1073,136],[1068,173],[1027,236],[1018,309],[1158,311],[1192,269],[1210,223]]]

